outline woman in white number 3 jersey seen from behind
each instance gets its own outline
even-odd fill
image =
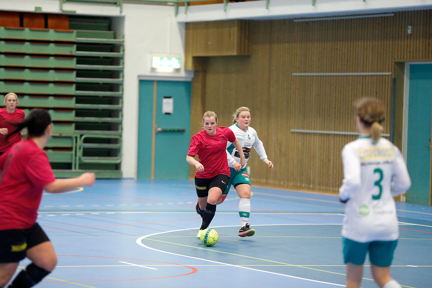
[[[343,257],[346,287],[359,288],[363,263],[369,252],[372,276],[382,288],[400,288],[390,277],[399,228],[393,197],[411,186],[399,149],[381,138],[384,106],[365,98],[357,104],[359,139],[343,147],[340,201],[343,218]]]

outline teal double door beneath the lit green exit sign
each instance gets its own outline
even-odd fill
[[[164,98],[172,106],[164,106]],[[191,82],[140,80],[138,179],[188,178],[190,117]]]

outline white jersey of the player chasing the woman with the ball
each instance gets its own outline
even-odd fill
[[[248,131],[245,132],[241,130],[237,123],[228,127],[234,132],[235,137],[240,141],[240,145],[243,148],[243,154],[245,154],[246,164],[248,163],[249,154],[251,153],[251,148],[254,146],[255,151],[260,155],[262,161],[266,161],[267,154],[264,149],[263,142],[258,138],[257,131],[254,128],[248,127]],[[228,142],[226,144],[226,157],[228,158],[228,166],[232,167],[235,162],[240,163],[240,154],[238,154],[237,149],[235,149],[234,144]],[[241,168],[245,168],[245,166]]]

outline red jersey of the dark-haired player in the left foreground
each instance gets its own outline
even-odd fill
[[[31,228],[43,187],[55,181],[48,156],[26,139],[0,156],[0,171],[0,230]]]

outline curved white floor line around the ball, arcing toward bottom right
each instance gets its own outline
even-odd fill
[[[284,225],[284,224],[282,224],[282,225]],[[266,226],[266,225],[254,225],[254,226]],[[237,227],[237,225],[216,226],[214,228],[220,228],[220,227]],[[154,251],[159,251],[159,252],[162,252],[162,253],[168,253],[168,254],[172,254],[172,255],[183,256],[183,257],[187,257],[187,258],[192,258],[192,259],[197,259],[197,260],[203,260],[203,261],[218,263],[218,264],[227,265],[227,266],[238,267],[238,268],[242,268],[242,269],[249,269],[249,270],[254,270],[254,271],[259,271],[259,272],[264,272],[264,273],[270,273],[270,274],[274,274],[274,275],[280,275],[280,276],[285,276],[285,277],[290,277],[290,278],[295,278],[295,279],[300,279],[300,280],[306,280],[306,281],[311,281],[311,282],[317,282],[317,283],[323,283],[323,284],[329,284],[329,285],[335,285],[335,286],[345,287],[345,285],[336,284],[336,283],[323,282],[323,281],[318,281],[318,280],[313,280],[313,279],[307,279],[307,278],[302,278],[302,277],[296,277],[296,276],[292,276],[292,275],[286,275],[286,274],[281,274],[281,273],[276,273],[276,272],[270,272],[270,271],[265,271],[265,270],[260,270],[260,269],[254,269],[254,268],[250,268],[250,267],[238,266],[238,265],[234,265],[234,264],[223,263],[223,262],[218,262],[218,261],[213,261],[213,260],[208,260],[208,259],[202,259],[202,258],[198,258],[198,257],[194,257],[194,256],[187,256],[187,255],[172,253],[172,252],[168,252],[168,251],[162,251],[162,250],[158,250],[158,249],[155,249],[155,248],[152,248],[152,247],[148,247],[147,245],[145,245],[145,244],[143,244],[141,242],[146,237],[150,237],[150,236],[154,236],[154,235],[158,235],[158,234],[177,232],[177,231],[185,231],[185,230],[194,230],[194,229],[198,229],[198,228],[178,229],[178,230],[172,230],[172,231],[165,231],[165,232],[158,232],[158,233],[148,234],[148,235],[145,235],[145,236],[142,236],[142,237],[138,238],[136,242],[137,242],[138,245],[140,245],[140,246],[142,246],[144,248],[147,248],[147,249],[150,249],[150,250],[154,250]]]

